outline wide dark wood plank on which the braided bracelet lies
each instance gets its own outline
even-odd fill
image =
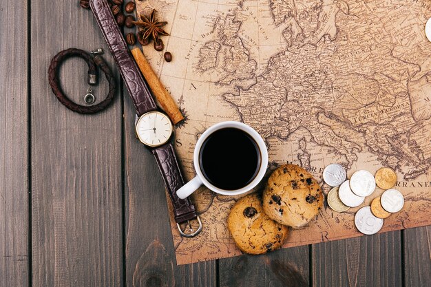
[[[48,65],[57,52],[69,47],[108,51],[92,13],[78,2],[31,1],[35,287],[123,286],[120,97],[100,114],[85,116],[61,105],[48,85]],[[113,67],[110,54],[103,57]],[[65,62],[61,83],[82,104],[86,63]],[[98,101],[107,87],[101,76],[94,87]]]

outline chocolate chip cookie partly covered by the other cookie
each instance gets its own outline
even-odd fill
[[[256,194],[246,195],[233,205],[227,220],[233,240],[244,253],[262,254],[282,246],[288,228],[264,213]]]

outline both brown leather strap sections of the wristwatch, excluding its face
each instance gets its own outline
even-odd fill
[[[90,0],[90,8],[96,17],[96,21],[102,30],[109,50],[114,56],[120,74],[125,81],[129,95],[132,97],[138,116],[147,111],[157,109],[147,84],[143,80],[138,67],[131,56],[124,41],[123,34],[112,15],[106,0]],[[174,206],[174,216],[177,223],[193,220],[196,214],[195,206],[191,204],[189,198],[181,200],[176,195],[176,191],[184,185],[180,167],[176,160],[174,147],[171,143],[152,149],[156,157],[158,167],[162,173],[163,180],[169,192],[172,205]],[[196,233],[197,234],[197,233]]]

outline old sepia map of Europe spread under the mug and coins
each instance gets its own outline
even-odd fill
[[[185,114],[175,142],[187,180],[202,131],[239,120],[266,141],[269,171],[299,164],[325,193],[327,164],[342,164],[348,177],[392,167],[406,204],[381,232],[431,224],[431,1],[136,3],[138,13],[156,8],[168,22],[162,39],[173,61],[151,45],[143,50]],[[241,254],[226,224],[235,200],[204,188],[193,195],[203,230],[183,238],[171,221],[178,264]],[[284,247],[361,235],[353,222],[361,206],[336,213],[325,204]]]

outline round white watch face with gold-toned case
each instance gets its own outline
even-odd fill
[[[144,145],[158,147],[165,144],[172,134],[171,120],[160,111],[149,111],[136,123],[136,134]]]

